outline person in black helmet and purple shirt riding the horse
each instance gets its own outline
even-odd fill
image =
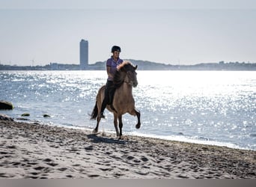
[[[115,93],[115,87],[113,84],[114,75],[118,65],[123,63],[123,60],[119,58],[121,52],[120,46],[112,46],[111,52],[113,55],[106,61],[106,71],[108,74],[108,79],[106,82],[105,97],[103,99],[103,103],[101,105],[100,110],[101,118],[105,118],[103,112],[106,108],[106,105],[112,105],[112,97]]]

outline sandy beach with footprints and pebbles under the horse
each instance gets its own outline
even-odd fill
[[[0,120],[0,178],[256,179],[256,151]]]

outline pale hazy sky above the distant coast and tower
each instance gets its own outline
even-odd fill
[[[89,64],[121,58],[164,64],[256,63],[253,0],[0,1],[0,64]]]

